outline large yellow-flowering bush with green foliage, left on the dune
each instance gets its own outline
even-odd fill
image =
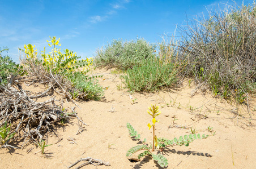
[[[24,45],[24,49],[19,49],[24,52],[24,61],[18,66],[22,70],[20,74],[29,74],[31,77],[38,76],[37,80],[41,79],[44,82],[55,77],[54,81],[56,79],[59,81],[57,86],[67,92],[65,96],[72,99],[99,100],[103,96],[104,90],[97,84],[96,78],[103,75],[87,75],[91,68],[90,65],[92,65],[92,58],[81,59],[76,52],[68,49],[61,51],[61,48],[58,48],[61,46],[59,38],[50,37],[47,42],[49,47],[52,47],[48,53],[45,47],[43,51],[37,52],[35,46],[31,44]],[[78,68],[82,69],[78,70]],[[61,81],[60,79],[66,80]]]

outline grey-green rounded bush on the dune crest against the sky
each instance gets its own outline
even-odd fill
[[[113,40],[105,49],[97,50],[95,63],[102,67],[126,70],[133,68],[135,65],[140,65],[142,60],[154,56],[155,47],[143,38],[130,42],[122,42],[122,39]]]

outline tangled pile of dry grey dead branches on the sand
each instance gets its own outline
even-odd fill
[[[0,86],[0,126],[5,122],[11,124],[24,141],[27,137],[42,139],[42,133],[49,131],[54,123],[68,118],[54,103],[54,97],[40,103],[31,99],[41,97],[51,89],[52,86],[40,95],[29,96],[11,76],[6,87]]]

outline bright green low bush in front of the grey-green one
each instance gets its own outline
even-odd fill
[[[131,91],[155,91],[176,83],[176,69],[173,63],[162,63],[159,58],[143,60],[141,65],[127,69],[122,78]]]

